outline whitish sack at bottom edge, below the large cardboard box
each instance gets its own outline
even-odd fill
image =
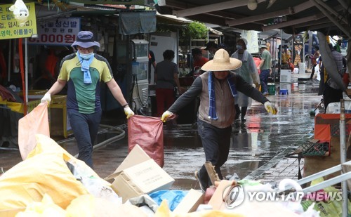
[[[146,217],[138,206],[131,204],[117,205],[102,198],[95,198],[92,195],[83,195],[72,201],[66,209],[66,217]]]

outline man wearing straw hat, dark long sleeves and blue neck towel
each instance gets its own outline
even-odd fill
[[[197,122],[199,136],[206,162],[211,162],[215,166],[220,179],[223,179],[220,166],[227,161],[229,154],[232,122],[235,117],[234,96],[237,96],[237,91],[263,103],[267,112],[277,114],[277,108],[260,91],[244,81],[241,76],[230,72],[239,67],[241,67],[240,60],[230,58],[227,51],[219,49],[213,60],[201,67],[201,70],[206,72],[197,77],[187,92],[183,93],[161,117],[162,121],[166,121],[199,96]],[[199,180],[201,190],[205,191],[209,186],[209,178],[204,165],[199,171],[195,171],[195,177]]]

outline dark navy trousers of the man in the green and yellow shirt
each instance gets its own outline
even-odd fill
[[[93,168],[93,144],[98,135],[102,112],[81,114],[79,112],[67,111],[67,113],[69,124],[71,124],[74,137],[77,140],[78,159]]]

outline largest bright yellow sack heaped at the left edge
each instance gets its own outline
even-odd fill
[[[0,176],[0,211],[41,202],[45,194],[66,209],[73,199],[88,194],[69,171],[64,158],[74,157],[51,138],[37,135],[37,146],[27,159]]]

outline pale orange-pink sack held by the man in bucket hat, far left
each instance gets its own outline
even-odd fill
[[[40,103],[25,117],[18,121],[18,147],[22,159],[26,159],[35,145],[35,134],[41,133],[50,136],[48,126],[48,103]]]

